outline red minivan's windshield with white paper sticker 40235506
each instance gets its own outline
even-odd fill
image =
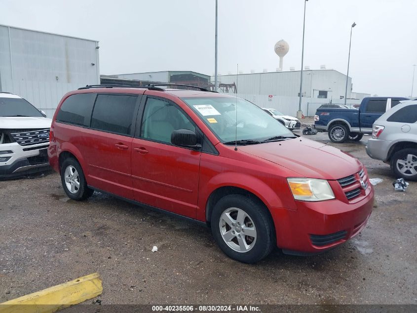
[[[231,141],[234,144],[235,139],[253,144],[296,137],[260,107],[241,98],[183,97],[182,100],[225,144]]]

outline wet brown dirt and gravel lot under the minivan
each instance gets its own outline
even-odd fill
[[[103,304],[417,304],[417,183],[394,191],[366,140],[336,145],[383,179],[362,233],[319,256],[277,252],[257,265],[228,259],[208,228],[97,192],[69,200],[55,173],[0,181],[0,302],[97,271]]]

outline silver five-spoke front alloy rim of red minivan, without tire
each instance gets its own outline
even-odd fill
[[[219,227],[223,240],[234,251],[248,252],[255,246],[255,224],[242,209],[226,209],[220,217]]]

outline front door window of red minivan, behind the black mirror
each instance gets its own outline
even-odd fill
[[[195,132],[190,120],[175,105],[148,98],[143,114],[141,137],[171,143],[172,132],[181,129]]]

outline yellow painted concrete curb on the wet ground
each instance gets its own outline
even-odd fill
[[[0,313],[52,313],[101,295],[99,273],[83,276],[0,304]]]

